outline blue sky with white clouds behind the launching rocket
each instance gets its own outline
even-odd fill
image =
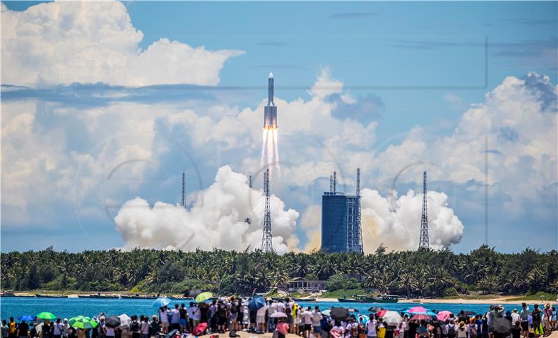
[[[36,3],[2,3],[3,22],[9,15],[22,27],[35,17],[43,38],[15,26],[2,40],[2,194],[15,196],[2,201],[3,252],[144,243],[126,234],[129,224],[112,220],[126,201],[176,203],[185,169],[195,207],[203,195],[196,192],[206,191],[223,165],[258,171],[257,128],[270,71],[284,100],[278,120],[285,165],[275,193],[285,210],[300,214],[279,226],[285,243],[292,240],[289,249],[312,242],[312,207],[328,185],[324,168],[338,167],[352,192],[356,165],[363,166],[363,186],[382,197],[365,199],[370,222],[386,236],[366,238],[370,247],[389,243],[398,224],[411,229],[415,216],[406,214],[405,199],[393,202],[391,215],[382,216],[378,205],[392,187],[398,197],[420,191],[425,166],[432,169],[429,190],[448,197],[462,224],[444,220],[444,199],[434,197],[435,236],[458,252],[481,245],[482,135],[490,135],[489,244],[505,252],[558,247],[556,2],[133,1],[102,8],[112,26],[79,10],[63,17],[31,13]],[[91,31],[75,29],[80,25]],[[149,59],[130,61],[138,50],[151,50]],[[188,58],[193,67],[176,61]],[[126,66],[111,68],[119,60]],[[490,121],[488,131],[478,121]],[[140,137],[146,130],[149,136]],[[137,158],[142,164],[130,164],[124,175],[133,183],[125,177],[107,183],[118,177],[109,173],[119,161]]]

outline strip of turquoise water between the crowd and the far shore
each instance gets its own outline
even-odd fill
[[[180,304],[179,301],[176,301]],[[172,302],[171,305],[174,305]],[[17,298],[6,297],[0,298],[0,318],[9,318],[13,316],[17,318],[24,314],[38,314],[39,312],[52,312],[61,318],[72,316],[97,316],[100,312],[105,314],[140,314],[151,315],[156,313],[156,309],[151,305],[153,300],[138,299],[88,299],[88,298]],[[340,303],[340,302],[299,302],[303,306],[315,307],[318,305],[320,309],[329,309],[332,306],[354,307],[361,314],[368,314],[368,308],[372,306],[381,306],[386,309],[399,311],[407,307],[424,306],[427,309],[436,311],[448,310],[458,313],[460,310],[473,311],[476,313],[484,313],[488,311],[489,305],[486,304],[421,304],[417,302],[398,302],[391,304],[376,303]],[[188,305],[188,304],[187,304]],[[512,310],[520,308],[517,305],[504,305],[506,309]]]

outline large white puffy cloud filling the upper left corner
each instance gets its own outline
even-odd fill
[[[1,18],[3,84],[216,85],[225,61],[243,54],[167,38],[142,50],[143,33],[119,1],[55,1],[22,12],[2,3]]]

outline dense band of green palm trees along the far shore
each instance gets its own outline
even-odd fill
[[[482,246],[469,254],[449,250],[375,254],[278,256],[214,249],[178,252],[155,249],[80,253],[9,252],[1,254],[1,288],[182,293],[203,289],[222,294],[265,292],[294,277],[328,281],[326,297],[349,297],[366,289],[399,295],[532,295],[558,293],[558,251],[525,249],[502,254]],[[361,281],[346,276],[361,276]],[[335,292],[337,290],[337,292]]]

